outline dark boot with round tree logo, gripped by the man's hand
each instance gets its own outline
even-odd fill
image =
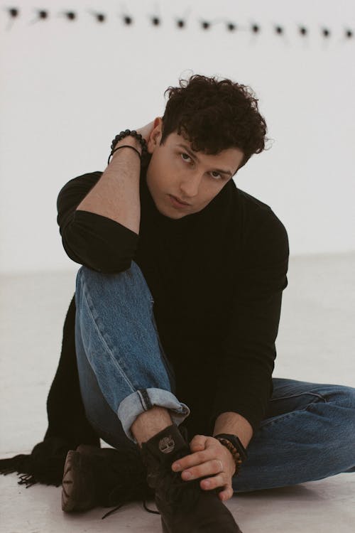
[[[191,453],[185,427],[181,430],[172,424],[142,443],[141,448],[163,533],[241,533],[217,490],[202,490],[203,478],[184,481],[181,473],[171,469],[174,461]]]

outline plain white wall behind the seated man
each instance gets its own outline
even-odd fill
[[[7,5],[0,11],[2,272],[78,268],[62,249],[60,188],[103,171],[115,134],[161,116],[165,89],[192,74],[255,90],[273,143],[234,179],[271,205],[291,254],[355,249],[355,38],[344,33],[354,31],[353,1],[14,4],[16,18]],[[38,21],[38,7],[48,9],[47,19]],[[68,9],[74,21],[65,18]],[[133,24],[123,23],[124,14]],[[227,21],[236,31],[226,30]]]

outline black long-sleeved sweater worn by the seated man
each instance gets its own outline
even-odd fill
[[[100,176],[84,174],[60,190],[65,252],[107,274],[129,269],[131,260],[141,268],[175,370],[175,394],[191,409],[185,424],[192,435],[211,435],[225,411],[244,416],[255,432],[273,392],[275,338],[288,284],[285,227],[232,180],[202,211],[166,217],[155,207],[142,168],[137,235],[107,217],[76,210]],[[64,335],[72,335],[73,315],[70,321]],[[75,359],[73,350],[70,357]]]

